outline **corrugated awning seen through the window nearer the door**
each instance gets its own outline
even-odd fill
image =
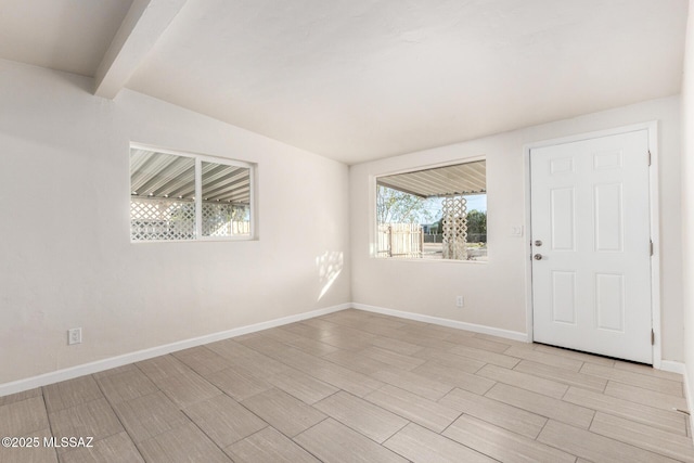
[[[457,164],[415,172],[378,177],[378,185],[421,197],[471,195],[487,192],[487,162]]]

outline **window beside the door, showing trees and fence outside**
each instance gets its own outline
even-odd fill
[[[376,257],[487,260],[487,164],[376,178]]]

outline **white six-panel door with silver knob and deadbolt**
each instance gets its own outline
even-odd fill
[[[653,363],[648,132],[532,149],[534,339]]]

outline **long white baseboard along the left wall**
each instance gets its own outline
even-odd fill
[[[268,330],[275,326],[299,322],[301,320],[324,316],[339,310],[349,309],[351,307],[351,304],[340,304],[338,306],[311,310],[310,312],[297,313],[295,316],[283,317],[267,322],[255,323],[252,325],[221,331],[205,336],[183,339],[176,343],[166,344],[164,346],[153,347],[151,349],[138,350],[134,352],[125,353],[123,356],[110,357],[107,359],[97,360],[95,362],[57,370],[25,380],[0,384],[0,397],[9,396],[10,394],[22,393],[28,389],[34,389],[35,387],[47,386],[49,384],[59,383],[61,381],[73,380],[75,377],[83,376],[87,374],[99,373],[101,371],[114,369],[116,366],[127,365],[129,363],[147,360],[153,357],[164,356],[167,353],[176,352],[178,350],[201,346],[203,344],[215,343],[217,340],[229,339],[231,337],[255,333],[256,331]]]

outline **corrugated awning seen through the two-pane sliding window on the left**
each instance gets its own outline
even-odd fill
[[[202,163],[203,201],[248,204],[250,169]],[[195,196],[195,159],[147,150],[130,150],[131,195],[192,201]]]

